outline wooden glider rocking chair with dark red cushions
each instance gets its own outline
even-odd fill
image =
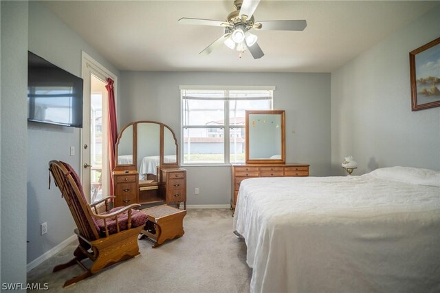
[[[86,271],[67,280],[63,287],[86,279],[113,263],[131,259],[140,254],[137,237],[146,222],[146,215],[134,209],[140,204],[109,210],[112,197],[110,196],[89,205],[80,179],[72,166],[52,160],[49,162],[49,170],[74,217],[77,227],[74,232],[78,235],[79,241],[74,251],[74,259],[56,265],[54,272],[74,264],[80,265]],[[103,202],[106,212],[98,214],[96,206]],[[90,268],[86,268],[81,262],[87,258],[93,262]]]

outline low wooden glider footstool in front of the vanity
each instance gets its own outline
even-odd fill
[[[162,245],[165,241],[182,237],[184,231],[184,217],[186,210],[179,210],[166,204],[140,210],[147,216],[144,230],[140,239],[152,241],[153,248]]]

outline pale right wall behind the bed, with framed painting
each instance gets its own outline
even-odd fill
[[[440,170],[440,107],[411,111],[409,52],[440,36],[440,6],[331,74],[333,174],[383,166]]]

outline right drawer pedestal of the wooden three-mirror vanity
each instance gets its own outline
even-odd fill
[[[179,208],[183,202],[186,210],[186,170],[162,169],[160,172],[161,191],[166,204],[176,204]]]

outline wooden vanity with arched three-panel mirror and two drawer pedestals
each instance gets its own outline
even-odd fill
[[[175,133],[166,124],[155,121],[127,124],[118,136],[116,158],[115,206],[154,202],[177,205],[184,202],[186,206],[186,171],[179,169]],[[167,187],[166,180],[171,175],[180,180]],[[178,193],[168,198],[168,193],[173,193],[171,190]]]

